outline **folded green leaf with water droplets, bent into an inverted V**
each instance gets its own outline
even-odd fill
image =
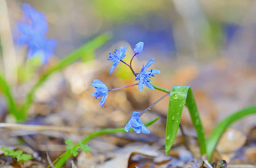
[[[166,121],[166,154],[172,148],[175,137],[178,133],[178,127],[181,122],[181,113],[186,106],[195,129],[197,130],[198,141],[201,154],[206,154],[206,138],[203,125],[197,110],[197,104],[190,86],[173,86],[169,98],[169,109]]]

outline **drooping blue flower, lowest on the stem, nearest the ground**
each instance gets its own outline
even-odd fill
[[[139,112],[133,112],[133,116],[130,118],[130,121],[126,124],[124,127],[124,130],[128,132],[131,127],[133,127],[133,130],[136,133],[150,133],[150,131],[145,127],[145,125],[142,123],[141,118],[139,118]]]

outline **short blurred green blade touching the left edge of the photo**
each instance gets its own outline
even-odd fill
[[[22,120],[24,116],[18,112],[17,110],[17,104],[14,101],[14,97],[11,94],[11,88],[9,87],[7,81],[4,77],[2,77],[2,74],[0,74],[0,91],[5,96],[5,100],[8,104],[8,110],[11,115],[14,115],[14,117],[17,120]]]

